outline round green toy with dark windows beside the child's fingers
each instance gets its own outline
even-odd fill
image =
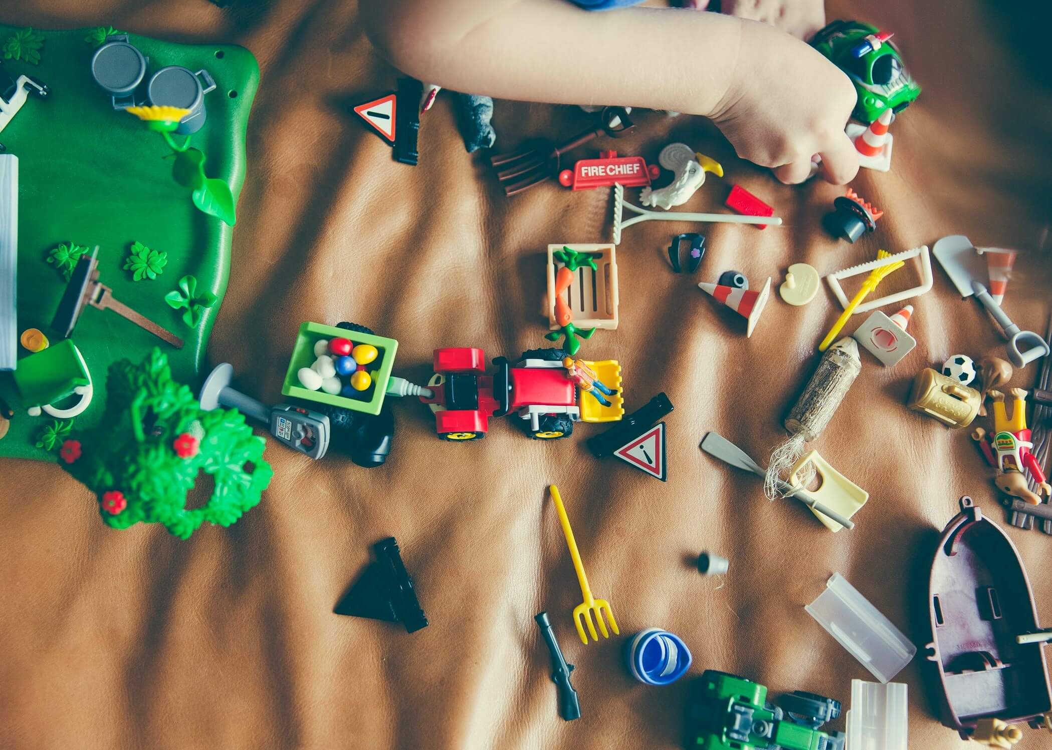
[[[858,92],[854,117],[867,125],[886,109],[896,114],[920,96],[889,32],[859,21],[833,21],[811,46],[848,75]]]

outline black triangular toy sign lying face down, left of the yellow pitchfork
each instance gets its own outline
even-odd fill
[[[377,542],[373,549],[376,561],[369,563],[333,611],[356,618],[401,622],[406,632],[427,627],[427,616],[420,607],[394,537]]]

